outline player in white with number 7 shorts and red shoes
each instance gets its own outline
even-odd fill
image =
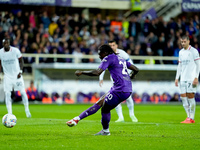
[[[180,92],[187,118],[181,123],[195,123],[195,93],[198,85],[200,58],[197,49],[192,47],[188,36],[181,38],[182,49],[179,52],[179,64],[176,72],[175,86],[180,77]]]

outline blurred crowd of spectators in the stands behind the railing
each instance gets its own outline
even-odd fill
[[[162,17],[150,20],[148,17],[131,16],[119,18],[102,17],[101,14],[87,19],[84,14],[49,15],[47,11],[0,12],[0,46],[4,37],[11,38],[11,45],[22,53],[45,54],[97,54],[97,48],[109,40],[115,40],[118,47],[130,55],[178,56],[180,36],[189,35],[191,45],[199,51],[200,19]],[[32,58],[24,58],[32,63]],[[82,59],[82,62],[94,62]],[[44,59],[40,62],[72,62],[71,59]],[[140,60],[135,63],[148,63]],[[155,62],[159,63],[159,62]],[[164,63],[176,63],[166,61]]]

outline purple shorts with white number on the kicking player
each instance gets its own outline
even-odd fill
[[[131,95],[131,92],[118,92],[110,90],[105,97],[105,103],[115,108],[119,103],[126,100]]]

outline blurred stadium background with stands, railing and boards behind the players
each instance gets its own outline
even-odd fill
[[[98,47],[109,40],[140,69],[135,103],[180,102],[174,79],[181,35],[200,51],[200,0],[0,0],[0,8],[0,47],[9,37],[23,53],[33,103],[95,103],[112,86],[108,71],[103,87],[98,77],[74,72],[97,69]],[[2,83],[0,95],[3,103]],[[20,96],[12,92],[14,102]]]

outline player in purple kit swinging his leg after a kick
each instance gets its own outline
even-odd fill
[[[95,135],[110,135],[110,111],[132,94],[131,79],[135,77],[139,69],[131,63],[126,62],[122,57],[118,56],[107,44],[100,46],[98,54],[99,58],[102,60],[98,69],[91,71],[77,70],[75,74],[77,76],[99,76],[108,68],[114,81],[113,86],[109,92],[103,95],[92,107],[82,112],[79,116],[66,122],[66,124],[70,127],[75,126],[80,120],[96,113],[101,108],[101,124],[103,129]],[[132,70],[130,75],[128,74],[127,69]]]

